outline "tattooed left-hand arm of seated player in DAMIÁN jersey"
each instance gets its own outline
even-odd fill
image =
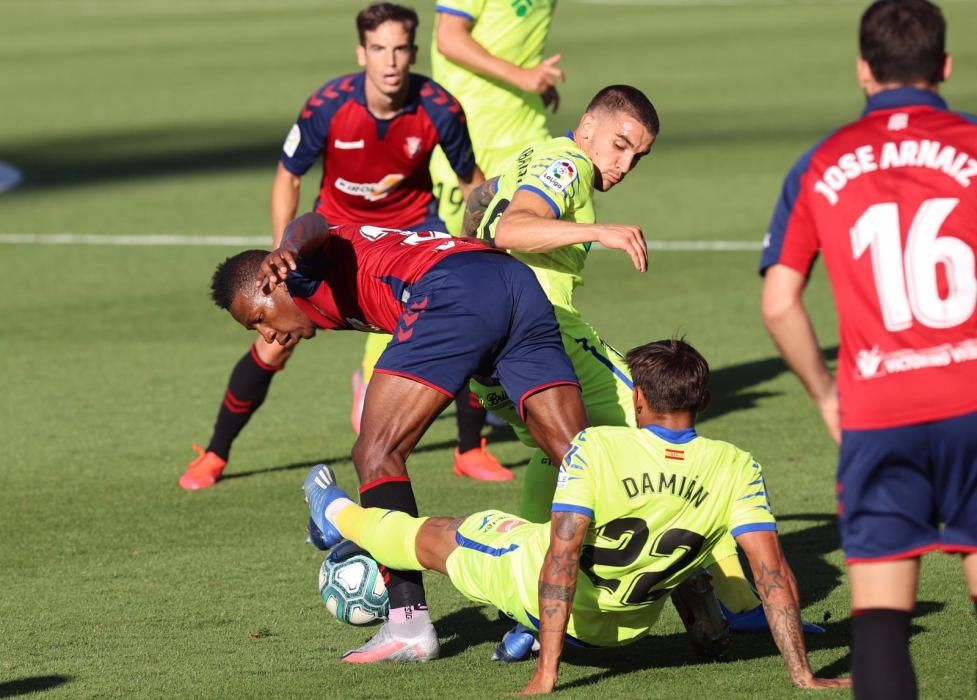
[[[523,688],[523,695],[549,693],[556,685],[563,639],[577,590],[580,549],[589,525],[590,518],[586,515],[553,513],[550,547],[539,572],[539,662],[533,679]]]

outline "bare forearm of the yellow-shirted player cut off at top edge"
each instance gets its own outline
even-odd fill
[[[474,20],[468,16],[438,12],[435,29],[438,51],[453,63],[473,73],[500,80],[525,92],[544,95],[547,105],[559,104],[559,94],[555,86],[565,79],[559,67],[559,54],[550,56],[532,68],[523,68],[493,55],[478,43],[472,37],[473,25]]]

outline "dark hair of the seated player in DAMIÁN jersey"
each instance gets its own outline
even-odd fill
[[[628,351],[634,385],[659,413],[701,411],[709,397],[709,363],[680,338],[656,340]]]

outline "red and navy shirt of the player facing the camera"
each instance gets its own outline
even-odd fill
[[[367,109],[365,73],[331,80],[302,107],[281,163],[301,176],[322,160],[315,210],[330,223],[410,227],[436,216],[435,146],[459,177],[471,176],[475,157],[461,105],[433,80],[409,79],[407,102],[392,119]]]

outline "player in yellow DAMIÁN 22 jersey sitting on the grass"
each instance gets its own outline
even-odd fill
[[[669,594],[732,535],[794,685],[848,685],[811,672],[797,584],[760,465],[696,433],[709,402],[705,359],[673,339],[635,348],[627,362],[641,427],[588,428],[574,438],[549,523],[491,510],[450,519],[364,509],[320,465],[305,493],[324,543],[346,537],[389,566],[445,573],[469,599],[538,630],[539,663],[523,690],[532,694],[553,690],[564,642],[619,646],[649,634]]]

